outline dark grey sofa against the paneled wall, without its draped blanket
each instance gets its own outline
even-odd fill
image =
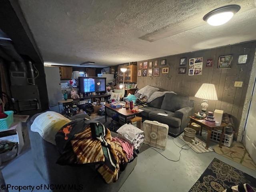
[[[141,108],[144,110],[141,115],[143,120],[167,124],[169,126],[168,134],[177,137],[188,126],[193,108],[194,100],[190,100],[188,96],[166,93],[148,103],[148,107]],[[168,116],[161,116],[158,113]]]

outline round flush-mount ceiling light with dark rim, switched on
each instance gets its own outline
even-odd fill
[[[234,14],[240,10],[239,5],[226,5],[214,9],[203,17],[203,20],[212,26],[222,25],[228,22]]]

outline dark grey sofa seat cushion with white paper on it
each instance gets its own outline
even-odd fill
[[[164,112],[166,112],[165,114],[168,114],[168,116],[158,115],[158,113],[164,113]],[[167,124],[169,127],[178,128],[181,125],[181,120],[179,118],[174,117],[174,112],[167,111],[167,110],[160,109],[158,111],[152,111],[148,114],[148,118],[150,120]]]

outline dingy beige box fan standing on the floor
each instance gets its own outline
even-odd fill
[[[169,126],[157,121],[145,120],[142,130],[144,131],[144,143],[165,150]]]

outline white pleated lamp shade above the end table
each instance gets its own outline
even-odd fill
[[[206,100],[218,100],[214,84],[203,83],[195,97]]]

